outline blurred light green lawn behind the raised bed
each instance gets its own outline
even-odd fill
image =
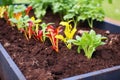
[[[29,3],[30,0],[14,0],[14,3]],[[120,21],[120,0],[112,0],[112,4],[108,0],[104,0],[103,9],[107,19]]]

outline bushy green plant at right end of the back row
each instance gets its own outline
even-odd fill
[[[90,2],[89,2],[90,1]],[[102,0],[89,0],[88,3],[86,2],[86,7],[83,6],[82,17],[84,17],[86,14],[86,20],[88,21],[88,24],[91,28],[93,28],[93,21],[103,21],[104,20],[104,11],[102,9]]]

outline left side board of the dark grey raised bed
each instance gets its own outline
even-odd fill
[[[2,80],[26,80],[22,72],[0,44],[0,78]]]

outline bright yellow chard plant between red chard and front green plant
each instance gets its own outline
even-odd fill
[[[68,47],[68,49],[71,49],[71,43],[67,43],[68,40],[70,39],[73,39],[73,36],[75,34],[75,32],[77,31],[76,29],[76,26],[75,27],[72,27],[72,25],[70,24],[72,21],[68,21],[68,22],[61,22],[60,25],[64,26],[65,27],[65,30],[64,30],[64,35],[56,35],[56,38],[62,40],[66,46]]]

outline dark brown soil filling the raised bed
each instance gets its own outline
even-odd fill
[[[60,18],[48,12],[44,21],[55,22],[57,26]],[[81,26],[78,29],[89,30]],[[92,59],[87,59],[83,51],[78,54],[76,46],[67,49],[62,42],[59,42],[59,52],[56,53],[49,40],[45,43],[34,39],[27,41],[23,34],[8,26],[3,19],[0,20],[0,42],[27,80],[57,80],[120,65],[120,34],[107,34],[96,28],[94,30],[108,39],[106,45],[97,48]]]

